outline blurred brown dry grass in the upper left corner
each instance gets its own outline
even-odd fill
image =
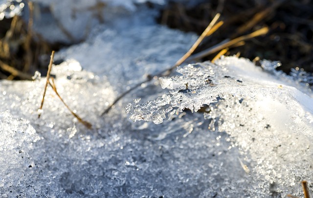
[[[46,73],[49,54],[58,44],[45,42],[32,31],[33,5],[28,1],[29,20],[21,16],[0,21],[0,79],[31,80],[35,71]]]

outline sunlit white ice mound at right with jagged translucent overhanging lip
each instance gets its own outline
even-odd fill
[[[311,89],[272,70],[280,63],[263,64],[264,69],[244,58],[224,57],[215,64],[181,67],[181,75],[160,79],[168,93],[143,104],[135,99],[126,112],[134,121],[155,124],[175,116],[168,124],[185,108],[197,111],[206,104],[210,132],[228,134],[234,140],[228,149],[238,147],[245,156],[243,169],[253,178],[254,196],[300,196],[299,183],[310,183],[313,175]]]

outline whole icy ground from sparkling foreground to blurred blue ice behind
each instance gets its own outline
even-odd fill
[[[58,92],[92,129],[51,88],[37,118],[45,78],[0,81],[1,197],[301,197],[304,179],[312,190],[312,91],[272,71],[277,63],[262,70],[225,57],[181,67],[100,116],[196,39],[148,13],[139,6],[56,54]],[[209,102],[206,112],[179,111]]]

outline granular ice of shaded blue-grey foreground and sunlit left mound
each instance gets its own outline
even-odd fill
[[[59,94],[93,128],[79,124],[50,88],[38,119],[40,75],[0,81],[1,197],[251,195],[252,179],[232,157],[238,149],[226,133],[208,133],[202,115],[135,126],[117,106],[100,117],[115,97],[105,77],[73,59],[52,74]]]

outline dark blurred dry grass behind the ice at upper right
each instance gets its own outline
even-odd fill
[[[226,55],[241,53],[253,60],[280,60],[281,69],[304,68],[313,72],[313,1],[311,0],[207,0],[199,6],[186,8],[172,3],[163,10],[159,23],[183,31],[201,34],[208,22],[219,12],[224,25],[214,36],[204,40],[196,52],[205,50],[226,39],[268,27],[266,36],[246,41],[231,48]],[[211,60],[214,54],[205,59]]]

